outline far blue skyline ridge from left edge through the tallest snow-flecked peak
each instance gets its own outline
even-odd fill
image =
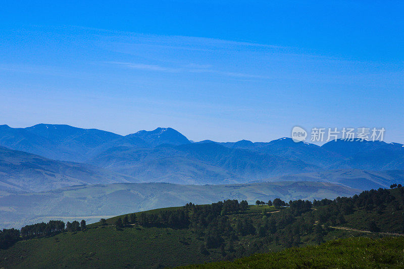
[[[0,146],[72,162],[85,162],[113,147],[151,148],[164,143],[180,145],[190,142],[172,128],[157,128],[122,136],[60,124],[37,124],[27,128],[0,126]]]

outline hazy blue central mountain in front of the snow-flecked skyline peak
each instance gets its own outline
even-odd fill
[[[149,182],[181,184],[237,183],[320,169],[299,159],[232,149],[218,143],[163,144],[153,149],[117,147],[88,162]]]

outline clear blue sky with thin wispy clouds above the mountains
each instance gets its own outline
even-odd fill
[[[404,2],[8,1],[0,123],[198,141],[293,126],[404,142]]]

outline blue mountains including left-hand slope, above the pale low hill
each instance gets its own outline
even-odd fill
[[[337,140],[318,146],[287,137],[270,142],[192,142],[172,128],[122,136],[69,125],[2,125],[0,146],[0,189],[4,191],[117,182],[234,184],[278,181],[296,174],[299,181],[306,177],[368,189],[386,186],[404,170],[404,145],[399,143]],[[12,166],[18,162],[18,167]],[[369,173],[373,179],[385,180],[362,180],[356,185],[359,182],[336,179],[338,171],[355,169],[379,172],[356,172],[350,181],[367,178]]]

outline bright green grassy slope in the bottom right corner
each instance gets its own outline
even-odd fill
[[[404,237],[347,238],[181,268],[404,268]]]

